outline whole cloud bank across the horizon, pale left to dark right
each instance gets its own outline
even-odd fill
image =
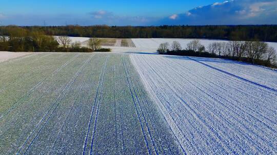
[[[167,17],[116,15],[106,10],[86,14],[3,14],[0,19],[5,24],[48,25],[67,24],[107,24],[107,25],[163,25],[163,24],[277,24],[276,0],[230,0],[208,6],[196,7],[182,14]]]

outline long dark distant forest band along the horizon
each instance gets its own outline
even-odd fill
[[[8,35],[9,27],[0,27],[0,35]],[[197,38],[223,40],[260,40],[277,42],[277,25],[163,25],[159,27],[116,27],[79,25],[53,27],[21,27],[46,35],[97,38]]]

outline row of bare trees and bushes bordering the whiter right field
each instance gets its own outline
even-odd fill
[[[173,41],[160,44],[157,52],[167,55],[225,58],[252,64],[277,67],[276,50],[268,43],[251,41],[213,42],[207,48],[199,40],[189,42],[186,49],[182,49],[179,42]]]

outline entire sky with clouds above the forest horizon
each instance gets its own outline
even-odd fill
[[[44,20],[47,25],[277,24],[276,8],[276,0],[1,0],[0,21],[4,25],[42,25]]]

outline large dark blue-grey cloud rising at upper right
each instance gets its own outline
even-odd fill
[[[276,0],[231,0],[196,7],[160,24],[277,24],[276,8]]]

